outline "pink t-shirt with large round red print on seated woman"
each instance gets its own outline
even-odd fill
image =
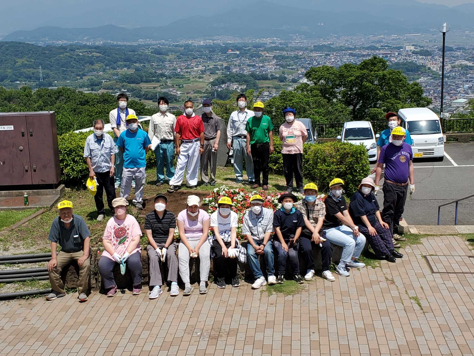
[[[111,217],[107,222],[107,226],[105,227],[103,238],[110,240],[115,252],[120,256],[123,256],[123,254],[127,251],[128,246],[132,242],[132,238],[137,235],[142,235],[140,225],[138,225],[137,220],[132,215],[127,214],[125,220],[118,220],[116,216]],[[140,251],[140,244],[138,244],[137,248],[133,250],[132,253],[136,253],[138,251]],[[110,256],[110,253],[107,251],[104,251],[102,256],[113,260],[112,256]]]

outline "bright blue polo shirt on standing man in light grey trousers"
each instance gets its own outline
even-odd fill
[[[117,146],[124,149],[123,167],[142,168],[146,167],[145,148],[151,145],[148,134],[141,130],[133,132],[130,129],[123,131],[117,140]]]

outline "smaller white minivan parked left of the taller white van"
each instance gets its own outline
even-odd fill
[[[377,159],[376,139],[379,137],[378,133],[374,134],[374,129],[369,121],[348,121],[344,122],[341,135],[337,136],[337,140],[347,141],[355,145],[362,143],[369,155],[369,161],[374,163]]]

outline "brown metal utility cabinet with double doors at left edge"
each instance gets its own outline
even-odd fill
[[[0,112],[0,186],[60,179],[55,112]]]

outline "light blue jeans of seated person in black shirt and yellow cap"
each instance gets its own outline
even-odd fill
[[[326,239],[337,246],[342,246],[342,256],[338,267],[346,267],[346,263],[352,260],[352,257],[358,258],[365,246],[365,236],[359,234],[355,237],[352,229],[346,225],[331,227],[326,231]]]

